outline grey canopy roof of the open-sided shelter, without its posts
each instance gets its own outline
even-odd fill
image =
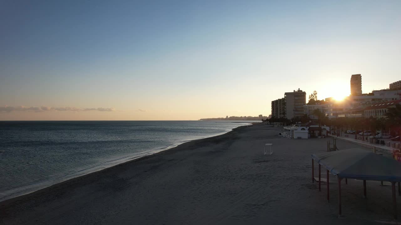
[[[312,159],[332,175],[371,181],[401,181],[401,163],[364,149],[345,149],[312,154]]]

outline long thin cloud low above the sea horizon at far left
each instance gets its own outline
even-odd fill
[[[26,106],[0,106],[0,112],[14,112],[14,111],[30,111],[30,112],[45,112],[45,111],[99,111],[99,112],[112,112],[114,108],[76,108],[76,107],[26,107]]]

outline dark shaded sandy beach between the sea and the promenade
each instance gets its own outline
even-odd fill
[[[391,185],[318,191],[312,153],[329,139],[287,139],[249,125],[0,202],[0,224],[379,224],[392,221]],[[331,139],[330,139],[331,140]],[[265,143],[273,154],[263,155]],[[337,141],[340,150],[360,147]],[[316,163],[315,163],[316,164]],[[315,166],[317,176],[317,166]],[[322,173],[325,171],[322,171]],[[322,175],[325,177],[325,175]],[[398,209],[401,197],[397,195]]]

